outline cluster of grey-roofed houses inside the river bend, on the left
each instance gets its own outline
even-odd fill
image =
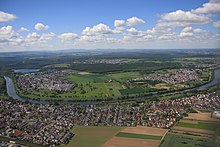
[[[69,91],[73,83],[64,80],[62,77],[72,73],[71,70],[54,71],[50,73],[28,73],[20,75],[17,78],[18,86],[24,90],[55,90]]]

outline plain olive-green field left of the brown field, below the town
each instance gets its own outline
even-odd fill
[[[99,147],[122,129],[123,127],[76,126],[73,129],[75,135],[72,140],[69,144],[61,146]]]

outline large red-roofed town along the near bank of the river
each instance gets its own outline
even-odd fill
[[[169,128],[192,108],[220,110],[218,93],[141,104],[43,105],[0,100],[0,135],[43,145],[66,144],[74,125]]]

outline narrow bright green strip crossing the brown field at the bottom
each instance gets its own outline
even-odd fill
[[[134,133],[126,133],[126,132],[119,132],[115,136],[117,136],[117,137],[127,137],[127,138],[153,139],[153,140],[160,140],[162,138],[162,136],[134,134]]]

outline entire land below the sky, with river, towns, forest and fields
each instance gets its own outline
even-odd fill
[[[3,54],[1,140],[67,147],[219,144],[213,113],[220,109],[219,50]]]

